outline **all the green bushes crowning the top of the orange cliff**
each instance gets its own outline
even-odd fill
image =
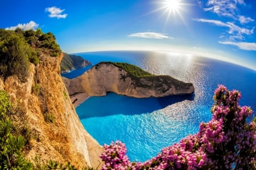
[[[30,71],[30,62],[38,64],[40,53],[45,50],[48,50],[52,57],[61,53],[51,32],[45,34],[41,29],[0,29],[0,76],[5,79],[16,75],[21,82],[25,82]]]

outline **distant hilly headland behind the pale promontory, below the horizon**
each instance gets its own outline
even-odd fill
[[[64,53],[64,57],[60,63],[60,70],[61,73],[66,73],[69,70],[85,67],[88,65],[92,65],[92,63],[80,56]]]

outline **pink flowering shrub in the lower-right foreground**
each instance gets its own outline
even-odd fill
[[[241,93],[219,85],[214,91],[212,120],[201,123],[199,132],[162,149],[144,163],[130,162],[125,144],[104,145],[102,169],[256,169],[256,121],[253,111],[240,107]]]

